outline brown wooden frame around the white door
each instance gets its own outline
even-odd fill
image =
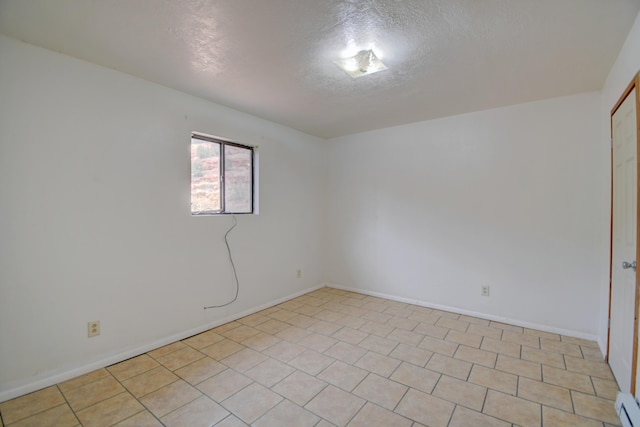
[[[615,106],[611,109],[609,117],[609,129],[611,137],[611,211],[610,218],[611,223],[609,226],[609,313],[608,313],[608,328],[607,328],[607,362],[609,361],[609,351],[611,344],[611,294],[613,286],[613,115],[618,111],[618,108],[627,99],[633,89],[636,89],[636,146],[638,148],[638,182],[636,183],[636,258],[640,257],[640,72],[638,72],[631,83],[622,93],[622,96],[618,99]],[[638,307],[640,306],[640,268],[636,269],[636,297],[634,308],[634,322],[633,322],[633,355],[631,357],[631,394],[636,394],[636,368],[638,365]]]

